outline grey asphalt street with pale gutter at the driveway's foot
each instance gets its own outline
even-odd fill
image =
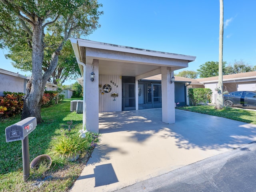
[[[116,192],[256,192],[256,142]]]

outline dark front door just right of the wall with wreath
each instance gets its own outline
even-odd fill
[[[135,83],[123,83],[122,110],[135,110]]]

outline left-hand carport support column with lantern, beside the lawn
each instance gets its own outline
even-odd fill
[[[93,67],[93,68],[92,68]],[[94,72],[94,81],[90,80],[90,73]],[[99,60],[92,64],[86,63],[86,130],[99,132]]]

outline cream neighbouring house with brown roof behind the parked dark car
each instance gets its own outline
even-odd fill
[[[210,88],[213,92],[212,103],[216,103],[218,76],[196,79],[202,88]],[[256,91],[256,71],[223,76],[223,91]]]

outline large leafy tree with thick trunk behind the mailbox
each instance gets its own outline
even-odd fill
[[[24,50],[20,55],[24,62],[32,58],[22,119],[35,116],[38,123],[42,121],[44,87],[64,44],[70,36],[86,36],[99,27],[100,6],[97,0],[0,0],[0,48]],[[32,56],[25,55],[31,50]]]

